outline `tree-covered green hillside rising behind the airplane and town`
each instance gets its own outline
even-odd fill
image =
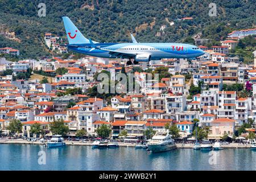
[[[60,35],[65,31],[61,16],[69,16],[81,32],[97,42],[131,42],[130,32],[139,42],[189,42],[201,38],[222,40],[232,30],[256,24],[256,2],[216,0],[217,16],[210,17],[208,0],[45,0],[46,17],[38,16],[35,0],[0,1],[0,26],[14,31],[20,42],[0,36],[0,47],[20,49],[21,57],[49,56],[42,40],[45,32]],[[181,20],[192,17],[192,20]],[[170,22],[174,22],[173,25]],[[164,34],[155,36],[166,25]]]

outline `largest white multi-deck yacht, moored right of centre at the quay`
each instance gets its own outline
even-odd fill
[[[169,131],[158,131],[147,144],[147,147],[152,152],[164,152],[175,149],[176,144],[169,135]]]

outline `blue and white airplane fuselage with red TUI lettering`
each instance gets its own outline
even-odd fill
[[[94,49],[90,43],[88,44],[72,44],[68,47],[72,51],[83,53],[89,56],[129,59],[133,56],[129,55],[150,55],[151,60],[160,60],[163,58],[184,58],[193,59],[204,54],[204,51],[190,44],[181,43],[96,43],[100,49]],[[104,50],[102,50],[104,49]],[[112,51],[122,52],[122,56]],[[123,53],[127,54],[124,56]]]

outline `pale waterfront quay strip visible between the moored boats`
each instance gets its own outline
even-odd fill
[[[92,142],[79,142],[79,141],[69,141],[65,140],[67,145],[74,145],[74,146],[92,146]],[[27,140],[23,139],[0,139],[0,144],[42,144],[39,141],[36,142],[28,142]],[[120,147],[135,147],[136,144],[134,143],[123,143],[118,142]],[[177,148],[193,148],[193,144],[176,144]],[[251,144],[242,144],[242,143],[230,143],[222,145],[223,148],[250,148]]]

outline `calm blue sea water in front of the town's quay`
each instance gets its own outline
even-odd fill
[[[46,164],[38,164],[45,151]],[[90,146],[46,148],[0,144],[0,170],[255,170],[256,151],[224,149],[214,153],[176,149],[151,154],[134,147],[92,149]],[[211,158],[213,157],[213,158]],[[216,157],[216,158],[214,158]],[[209,159],[213,163],[209,164]]]

